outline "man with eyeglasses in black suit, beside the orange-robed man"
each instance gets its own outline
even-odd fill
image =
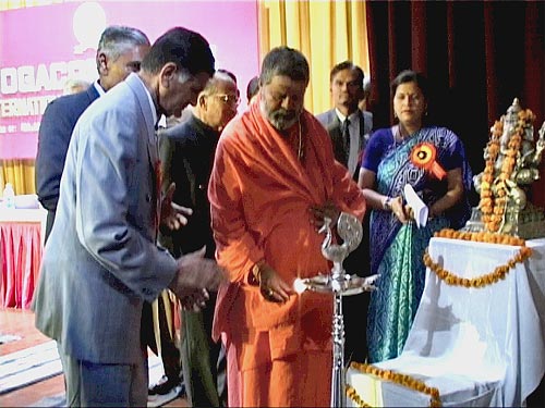
[[[219,135],[237,114],[238,106],[235,76],[217,70],[198,95],[191,116],[160,133],[164,188],[175,183],[173,201],[193,209],[187,224],[161,240],[175,256],[206,246],[206,257],[214,259],[216,245],[206,191]],[[183,379],[193,407],[227,406],[225,351],[221,343],[211,339],[215,299],[216,294],[210,293],[201,311],[181,312]]]

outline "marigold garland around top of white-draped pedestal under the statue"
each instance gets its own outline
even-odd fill
[[[509,271],[513,269],[517,263],[522,263],[532,256],[532,249],[525,246],[524,239],[505,234],[470,233],[470,232],[458,232],[445,228],[435,233],[435,236],[443,238],[456,237],[457,239],[464,239],[464,240],[520,246],[519,252],[512,259],[507,261],[506,264],[497,267],[491,273],[472,279],[460,277],[453,274],[452,272],[443,269],[438,263],[435,263],[433,261],[432,257],[429,256],[426,249],[426,252],[424,254],[424,264],[427,268],[429,268],[429,270],[432,270],[447,285],[451,286],[483,287],[492,285],[500,280],[504,280],[509,273]]]

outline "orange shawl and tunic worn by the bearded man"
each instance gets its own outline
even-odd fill
[[[329,273],[320,251],[324,235],[311,224],[310,207],[329,200],[360,220],[365,211],[361,190],[335,161],[325,128],[307,111],[300,121],[303,162],[263,116],[259,100],[231,121],[220,137],[208,197],[216,258],[231,283],[218,294],[215,338],[225,332],[251,342],[253,333],[275,327],[279,353],[288,353],[302,346],[296,333],[306,336],[310,330],[316,332],[311,348],[330,347],[331,298],[304,293],[283,305],[272,304],[247,284],[252,267],[262,259],[290,284],[295,277]]]

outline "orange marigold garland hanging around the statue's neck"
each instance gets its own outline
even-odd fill
[[[481,180],[481,200],[479,207],[483,214],[483,223],[489,232],[497,232],[501,227],[507,209],[509,189],[507,181],[520,157],[520,147],[524,136],[524,127],[531,124],[535,115],[530,109],[518,112],[518,121],[505,151],[499,174],[495,174],[494,165],[501,150],[500,137],[504,133],[504,122],[496,121],[491,128],[491,139],[485,148],[486,163]],[[492,188],[494,185],[495,188]]]

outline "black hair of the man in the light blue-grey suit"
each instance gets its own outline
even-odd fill
[[[184,27],[174,27],[161,35],[142,60],[142,70],[157,74],[169,62],[191,75],[205,72],[211,76],[215,71],[208,41]]]

